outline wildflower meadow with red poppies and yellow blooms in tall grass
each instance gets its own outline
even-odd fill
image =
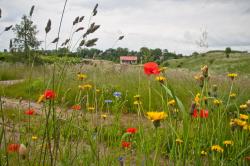
[[[231,80],[227,73],[209,72],[201,87],[194,79],[201,71],[167,69],[161,72],[166,80],[160,83],[156,76],[144,73],[143,65],[108,61],[40,66],[3,63],[1,67],[5,75],[15,73],[14,79],[23,79],[0,85],[1,96],[15,99],[13,107],[2,99],[6,100],[1,109],[6,147],[1,148],[1,162],[6,157],[9,163],[24,165],[248,162],[249,107],[242,105],[249,100],[250,80],[244,74]],[[84,74],[80,79],[79,73]],[[46,89],[56,96],[35,104]],[[236,96],[229,97],[232,93]],[[193,102],[197,115],[190,114]],[[25,114],[27,109],[37,114]],[[209,112],[206,116],[204,110]],[[164,116],[153,115],[151,121],[148,112],[152,111]],[[13,143],[26,145],[25,159],[5,153]]]

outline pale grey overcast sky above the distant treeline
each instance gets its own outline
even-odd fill
[[[96,3],[98,13],[90,19]],[[0,0],[0,31],[20,23],[32,5],[35,5],[32,20],[40,41],[44,41],[48,19],[52,21],[47,37],[50,43],[57,36],[64,0]],[[250,0],[68,0],[59,43],[70,36],[77,16],[85,16],[78,27],[87,28],[89,20],[101,25],[89,38],[99,38],[94,48],[102,50],[149,47],[184,55],[226,47],[250,51]],[[208,48],[197,45],[204,31]],[[81,35],[81,32],[74,35],[73,45]],[[115,44],[120,35],[125,38]],[[8,48],[14,37],[11,31],[3,33],[0,50]],[[41,47],[44,48],[44,43]],[[55,45],[48,44],[47,48],[54,49]]]

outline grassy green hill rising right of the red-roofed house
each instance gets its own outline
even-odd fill
[[[236,72],[250,75],[250,53],[240,51],[232,51],[229,58],[226,58],[224,51],[209,51],[181,59],[171,59],[165,64],[170,68],[186,68],[192,71],[198,71],[201,66],[208,65],[216,73]]]

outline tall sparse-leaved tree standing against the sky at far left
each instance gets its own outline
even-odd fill
[[[24,51],[27,54],[28,50],[37,49],[41,44],[36,38],[38,33],[36,25],[26,15],[22,17],[20,24],[15,25],[13,31],[16,35],[14,46],[19,51]]]

